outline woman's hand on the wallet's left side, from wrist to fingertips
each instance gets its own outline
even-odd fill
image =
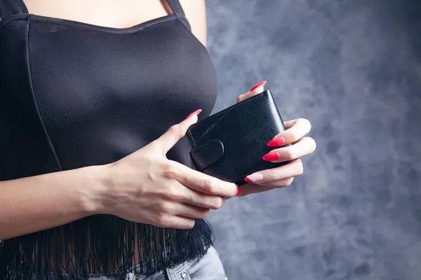
[[[206,218],[210,209],[222,207],[226,197],[237,195],[235,183],[166,158],[187,128],[197,122],[200,111],[135,153],[102,166],[107,174],[105,188],[93,197],[100,202],[100,213],[163,228],[192,228],[195,218]]]

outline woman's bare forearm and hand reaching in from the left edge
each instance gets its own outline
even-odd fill
[[[112,214],[168,228],[192,228],[237,194],[234,183],[168,160],[167,151],[197,122],[196,111],[147,146],[109,165],[0,181],[0,239],[86,216]]]

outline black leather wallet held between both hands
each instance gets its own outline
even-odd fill
[[[288,163],[262,160],[279,148],[267,142],[283,130],[281,114],[266,90],[191,125],[189,155],[197,171],[242,186],[245,176]]]

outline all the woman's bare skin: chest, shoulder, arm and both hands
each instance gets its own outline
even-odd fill
[[[25,0],[29,13],[105,27],[126,28],[171,13],[166,1],[125,0]],[[192,33],[206,46],[204,0],[181,0]],[[80,7],[83,7],[81,9]],[[93,13],[95,11],[95,13]],[[237,101],[262,92],[263,86],[241,94]],[[166,152],[187,128],[194,114],[172,125],[147,146],[109,165],[83,167],[0,182],[0,239],[53,228],[93,214],[112,214],[129,221],[163,228],[192,228],[194,218],[206,218],[219,209],[238,186],[221,181],[166,158]],[[283,132],[288,148],[274,148],[288,165],[262,171],[265,180],[242,186],[242,194],[288,186],[302,174],[299,158],[312,153],[316,144],[305,135],[308,120],[286,122]],[[137,205],[137,207],[133,207]]]

